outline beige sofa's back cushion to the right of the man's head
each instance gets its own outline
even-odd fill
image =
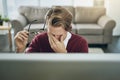
[[[76,7],[75,22],[76,23],[97,23],[97,20],[105,15],[105,8],[101,7]]]

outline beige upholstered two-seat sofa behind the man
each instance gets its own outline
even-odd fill
[[[83,36],[88,44],[109,44],[112,41],[116,22],[106,15],[103,7],[63,6],[73,15],[72,32]],[[50,8],[37,6],[21,6],[19,15],[11,20],[15,34],[20,30],[39,31],[45,22],[45,14]],[[37,21],[34,21],[37,20]],[[33,22],[34,21],[34,22]],[[29,41],[34,37],[30,36]]]

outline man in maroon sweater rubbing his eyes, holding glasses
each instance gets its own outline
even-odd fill
[[[87,53],[88,44],[84,38],[71,33],[71,13],[63,7],[56,6],[46,14],[47,32],[40,33],[26,48],[29,32],[23,30],[15,36],[17,52],[55,52]]]

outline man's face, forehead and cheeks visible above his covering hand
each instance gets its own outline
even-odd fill
[[[65,39],[67,36],[67,31],[62,26],[48,26],[47,31],[59,41],[61,39],[61,36],[63,36],[63,39]]]

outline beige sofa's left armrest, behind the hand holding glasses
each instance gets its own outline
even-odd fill
[[[18,31],[23,30],[23,28],[27,25],[27,20],[24,16],[18,15],[17,17],[11,19],[12,27],[14,28],[14,34]]]

